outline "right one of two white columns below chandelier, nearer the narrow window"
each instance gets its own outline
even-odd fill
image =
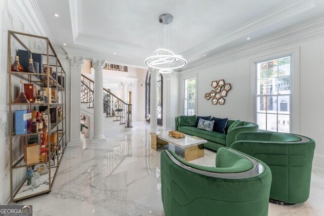
[[[172,73],[163,75],[163,129],[171,129],[171,76]]]

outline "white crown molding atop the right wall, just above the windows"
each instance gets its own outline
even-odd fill
[[[185,67],[184,70],[181,70],[181,74],[190,73],[197,68],[207,68],[214,66],[215,64],[249,58],[265,52],[300,45],[304,42],[323,37],[324,16],[279,33],[272,34],[268,37],[251,42],[250,44],[215,54],[203,60],[192,62]]]

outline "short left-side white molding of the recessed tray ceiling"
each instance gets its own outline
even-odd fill
[[[70,6],[70,16],[71,16],[71,24],[72,24],[72,34],[73,39],[77,38],[77,36],[81,32],[81,12],[82,12],[82,1],[81,0],[69,0]]]

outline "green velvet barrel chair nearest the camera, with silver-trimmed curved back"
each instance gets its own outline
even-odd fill
[[[271,171],[260,160],[230,148],[217,152],[216,167],[161,152],[161,196],[166,216],[268,215]]]

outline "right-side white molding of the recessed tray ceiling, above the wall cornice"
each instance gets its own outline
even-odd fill
[[[260,27],[277,23],[314,7],[315,3],[312,0],[289,1],[262,16],[255,17],[243,25],[238,25],[233,30],[184,51],[182,55],[190,59],[190,57],[201,55],[207,51],[225,45],[237,38],[244,37]]]

